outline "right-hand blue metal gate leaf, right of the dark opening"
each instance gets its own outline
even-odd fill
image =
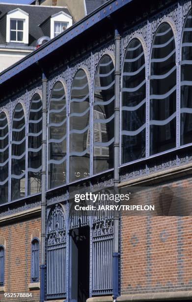
[[[97,220],[93,225],[92,295],[112,293],[112,218]]]

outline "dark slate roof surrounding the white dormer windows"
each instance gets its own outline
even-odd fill
[[[23,11],[29,14],[29,43],[28,46],[36,46],[36,40],[43,36],[46,36],[43,33],[43,30],[40,25],[46,19],[63,11],[68,15],[71,15],[69,10],[64,7],[58,6],[41,6],[41,5],[22,5],[22,4],[10,4],[10,3],[0,3],[0,20],[6,16],[7,12],[20,8]],[[0,44],[6,44],[5,31],[0,26]]]

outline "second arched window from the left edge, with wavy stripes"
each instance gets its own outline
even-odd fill
[[[11,200],[25,197],[26,131],[25,115],[19,103],[13,114],[11,153]]]

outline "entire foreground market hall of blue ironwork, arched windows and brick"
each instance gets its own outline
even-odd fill
[[[191,1],[110,0],[0,74],[1,301],[192,300],[191,65]]]

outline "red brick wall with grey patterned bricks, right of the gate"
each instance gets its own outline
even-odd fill
[[[162,189],[166,192],[163,199]],[[158,214],[163,204],[165,215],[171,216],[122,216],[121,295],[192,290],[192,216],[171,214],[177,212],[180,201],[184,213],[192,205],[192,179],[173,182],[164,189],[165,185],[143,189],[134,202],[154,201]],[[182,200],[167,194],[172,190],[175,195],[178,189]],[[166,200],[171,200],[167,208]]]

